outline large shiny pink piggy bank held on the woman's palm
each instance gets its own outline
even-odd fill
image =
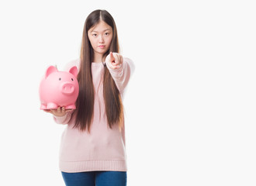
[[[40,109],[56,109],[60,106],[75,109],[79,91],[77,75],[78,68],[75,66],[69,72],[57,71],[54,66],[48,67],[40,82]]]

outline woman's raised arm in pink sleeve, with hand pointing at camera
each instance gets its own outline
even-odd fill
[[[123,93],[135,69],[133,61],[122,57],[119,53],[109,53],[106,57],[106,66],[116,82],[119,92]]]

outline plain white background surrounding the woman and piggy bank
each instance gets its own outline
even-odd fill
[[[41,111],[49,65],[78,58],[106,9],[136,71],[126,91],[128,183],[255,185],[254,1],[2,1],[1,185],[64,185],[65,126]]]

